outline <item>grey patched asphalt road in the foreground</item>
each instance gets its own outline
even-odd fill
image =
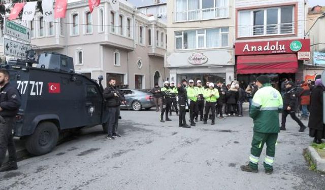
[[[274,174],[246,173],[252,120],[231,117],[184,129],[178,118],[121,111],[119,133],[107,140],[100,126],[85,129],[50,154],[0,173],[0,189],[325,189],[325,177],[308,170],[302,155],[312,139],[288,119],[279,134]],[[306,123],[306,122],[304,122]]]

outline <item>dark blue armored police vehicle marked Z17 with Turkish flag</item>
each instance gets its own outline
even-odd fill
[[[11,83],[21,93],[14,135],[25,138],[30,154],[49,153],[63,130],[107,121],[101,80],[98,84],[74,72],[73,58],[42,53],[38,61],[9,60],[2,68],[9,70]]]

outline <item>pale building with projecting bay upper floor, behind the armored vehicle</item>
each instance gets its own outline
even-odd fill
[[[164,68],[166,25],[128,2],[120,1],[119,11],[113,11],[102,0],[90,13],[88,1],[82,0],[68,4],[66,18],[45,22],[37,13],[27,25],[39,52],[73,57],[75,71],[89,78],[115,77],[118,85],[150,89],[169,77]]]

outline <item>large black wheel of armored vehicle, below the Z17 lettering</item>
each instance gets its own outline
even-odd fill
[[[26,140],[27,151],[35,156],[45,155],[53,150],[58,140],[59,132],[52,122],[38,124],[34,134]]]

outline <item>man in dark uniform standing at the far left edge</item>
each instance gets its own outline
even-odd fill
[[[7,166],[0,168],[0,172],[18,169],[12,130],[16,125],[21,97],[17,88],[9,81],[9,72],[0,69],[0,167],[5,160],[7,149],[9,153],[9,162]]]

